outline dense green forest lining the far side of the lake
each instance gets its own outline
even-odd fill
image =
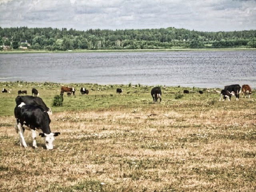
[[[0,50],[130,50],[256,48],[256,30],[200,32],[177,29],[100,30],[1,28]]]

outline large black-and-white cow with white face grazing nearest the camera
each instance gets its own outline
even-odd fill
[[[45,145],[47,150],[53,149],[54,136],[58,136],[60,132],[52,133],[50,130],[50,117],[41,106],[27,105],[22,102],[14,108],[14,116],[16,118],[15,129],[19,134],[20,146],[28,147],[24,139],[25,128],[32,131],[33,147],[36,145],[36,130],[41,130],[39,135],[45,137]],[[27,127],[23,127],[23,126]]]

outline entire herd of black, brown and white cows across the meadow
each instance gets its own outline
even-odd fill
[[[61,87],[60,95],[63,96],[64,92],[67,92],[67,95],[73,94],[75,96],[75,88],[74,87]],[[8,93],[5,88],[2,89],[2,93]],[[82,87],[80,89],[81,94],[89,94],[89,90]],[[116,93],[121,94],[123,92],[122,88],[117,88]],[[9,92],[10,93],[10,92]],[[189,93],[188,90],[183,91],[184,94]],[[220,91],[220,100],[223,96],[223,101],[233,96],[236,96],[236,100],[239,99],[239,94],[244,93],[244,96],[252,94],[252,89],[249,85],[242,85],[242,88],[239,84],[225,86],[223,90]],[[14,108],[14,116],[16,118],[15,130],[19,135],[20,146],[27,147],[27,144],[24,140],[24,131],[25,129],[31,130],[32,139],[33,139],[33,147],[37,148],[36,145],[36,130],[41,131],[39,136],[45,138],[45,145],[47,150],[53,149],[53,141],[54,137],[58,136],[60,132],[51,132],[50,130],[50,117],[52,115],[52,111],[43,100],[37,96],[39,96],[38,90],[32,88],[32,96],[20,96],[20,94],[27,94],[26,90],[19,90],[18,96],[15,99],[16,107]],[[199,91],[199,94],[203,94],[202,91]],[[33,96],[34,95],[34,96]],[[156,103],[158,99],[162,100],[162,91],[160,87],[154,87],[151,90],[151,96],[153,98],[153,102]],[[220,101],[219,100],[219,101]]]

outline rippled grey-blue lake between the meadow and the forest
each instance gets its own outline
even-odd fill
[[[0,81],[256,87],[256,51],[0,54]]]

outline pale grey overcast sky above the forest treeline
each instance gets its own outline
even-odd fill
[[[0,26],[256,29],[256,0],[0,0]]]

